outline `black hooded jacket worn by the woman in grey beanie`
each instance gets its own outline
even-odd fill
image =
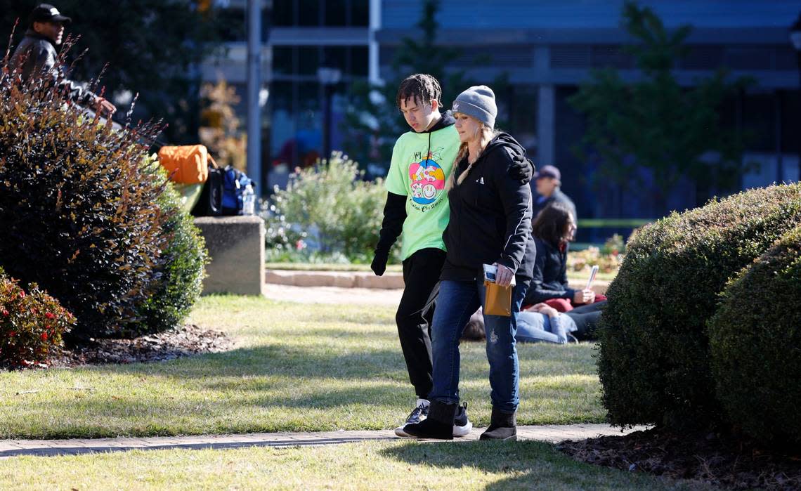
[[[531,237],[533,165],[511,135],[500,133],[478,157],[461,184],[450,190],[450,220],[443,239],[448,255],[442,280],[483,276],[482,264],[503,264],[518,279],[530,279],[536,256]],[[520,175],[520,163],[528,172]],[[454,166],[459,176],[467,159]]]

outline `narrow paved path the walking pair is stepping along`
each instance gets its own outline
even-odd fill
[[[646,427],[621,431],[610,425],[545,425],[518,426],[517,439],[522,441],[565,440],[624,435]],[[466,437],[453,441],[476,441],[483,428],[474,428]],[[163,449],[239,449],[244,447],[296,447],[337,445],[354,441],[437,441],[399,438],[391,429],[376,431],[336,431],[310,433],[248,433],[242,435],[200,435],[193,437],[96,438],[81,440],[2,440],[0,459],[21,456],[54,457],[84,453],[126,452],[128,450]]]

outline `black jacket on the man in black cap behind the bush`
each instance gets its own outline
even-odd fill
[[[58,69],[57,61],[58,53],[53,41],[29,29],[11,56],[10,68],[20,69],[23,81],[32,75],[51,78],[54,85],[64,91],[65,99],[84,107],[95,106],[98,96],[65,78]]]

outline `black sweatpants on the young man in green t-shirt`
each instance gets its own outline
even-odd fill
[[[432,388],[431,320],[440,290],[440,273],[445,251],[426,248],[414,252],[403,262],[405,288],[395,314],[398,337],[409,380],[421,399],[428,399]]]

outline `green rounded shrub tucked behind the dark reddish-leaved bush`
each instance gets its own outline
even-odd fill
[[[166,181],[163,168],[158,163],[153,165],[153,179]],[[160,276],[155,291],[139,306],[139,322],[131,334],[161,332],[178,326],[203,290],[203,268],[208,263],[203,235],[191,215],[181,210],[179,194],[171,185],[159,197],[158,205],[168,217],[161,231],[167,237],[167,248],[159,256],[156,271]]]

